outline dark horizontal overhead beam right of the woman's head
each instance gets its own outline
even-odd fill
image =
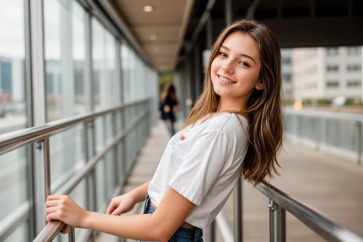
[[[258,21],[271,29],[281,48],[363,45],[362,16]],[[213,20],[214,31],[224,24],[224,19]]]

